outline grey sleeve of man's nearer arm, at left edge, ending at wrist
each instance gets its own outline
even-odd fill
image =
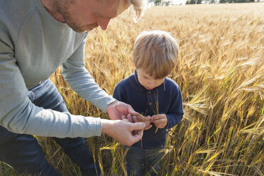
[[[100,119],[43,109],[31,102],[7,33],[0,23],[0,125],[36,136],[101,136]]]

